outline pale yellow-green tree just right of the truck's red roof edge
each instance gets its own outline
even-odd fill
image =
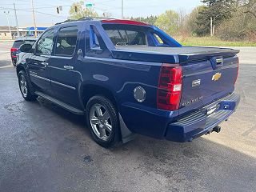
[[[166,10],[164,14],[158,16],[154,24],[164,30],[167,34],[177,34],[178,19],[178,13],[174,10]]]

